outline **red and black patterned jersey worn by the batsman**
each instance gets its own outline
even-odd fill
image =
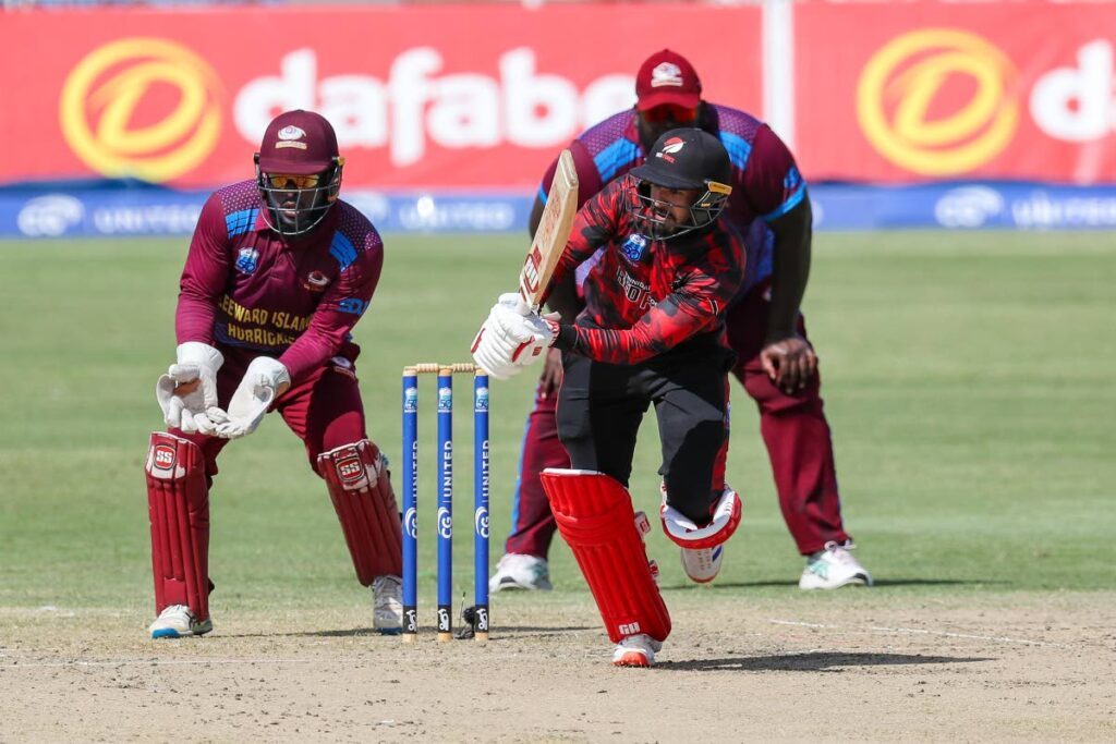
[[[700,338],[725,347],[721,311],[740,287],[744,247],[720,219],[710,229],[651,240],[628,214],[636,180],[612,182],[578,211],[550,286],[602,250],[585,280],[586,308],[558,345],[598,361],[638,364]]]

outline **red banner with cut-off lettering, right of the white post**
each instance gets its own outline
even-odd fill
[[[1116,181],[1116,4],[809,2],[795,37],[808,178]]]

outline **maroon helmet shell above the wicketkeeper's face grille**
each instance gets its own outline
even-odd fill
[[[275,117],[260,143],[264,173],[321,173],[337,157],[337,135],[320,114],[296,109]]]

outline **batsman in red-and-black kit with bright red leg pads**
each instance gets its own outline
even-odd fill
[[[549,346],[562,352],[558,436],[574,470],[546,470],[542,484],[616,644],[617,666],[651,666],[671,631],[643,545],[650,524],[626,490],[651,404],[663,448],[660,515],[691,576],[716,576],[722,543],[740,521],[740,499],[720,467],[733,361],[722,312],[745,260],[743,239],[720,218],[732,191],[729,155],[695,128],[665,133],[653,154],[574,221],[550,287],[600,251],[577,321],[541,318],[506,294],[473,345],[473,358],[497,378]]]

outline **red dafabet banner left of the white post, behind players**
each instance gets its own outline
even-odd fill
[[[0,182],[250,177],[268,120],[335,125],[346,183],[531,189],[557,149],[634,103],[663,47],[757,112],[758,8],[98,9],[2,15]],[[715,42],[714,42],[715,40]],[[47,51],[48,50],[48,51]]]

